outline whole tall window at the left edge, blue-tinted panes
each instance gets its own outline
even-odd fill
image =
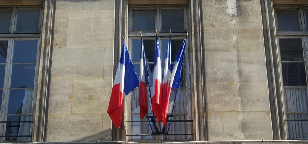
[[[42,10],[0,8],[0,142],[30,141]]]

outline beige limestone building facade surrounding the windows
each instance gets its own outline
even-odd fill
[[[308,143],[247,141],[286,139],[270,99],[279,89],[270,83],[265,29],[274,23],[262,20],[272,0],[4,0],[43,4],[33,142],[126,141],[107,107],[129,2],[189,8],[193,141],[202,141],[190,143]],[[220,142],[234,140],[243,142]]]

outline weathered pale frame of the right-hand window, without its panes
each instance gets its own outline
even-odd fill
[[[282,63],[292,63],[292,62],[299,62],[299,63],[304,63],[305,65],[305,70],[306,70],[306,82],[308,85],[308,28],[306,27],[306,16],[304,13],[304,9],[308,8],[307,6],[304,5],[297,5],[297,6],[284,6],[284,5],[275,5],[274,6],[274,16],[275,16],[275,21],[277,21],[277,11],[276,10],[293,10],[294,8],[298,8],[298,17],[299,17],[299,24],[300,24],[300,29],[301,31],[279,31],[278,30],[278,23],[275,23],[276,26],[276,41],[277,41],[277,55],[278,55],[278,60],[279,60],[279,75],[280,75],[280,81],[281,81],[281,93],[282,93],[282,107],[284,111],[284,124],[285,124],[285,134],[286,138],[290,140],[289,134],[288,133],[288,124],[287,122],[290,121],[287,119],[287,114],[288,113],[294,113],[294,112],[287,112],[286,111],[286,99],[284,95],[284,88],[306,88],[308,89],[308,86],[284,86],[283,85],[283,77],[282,77]],[[279,39],[284,39],[284,38],[300,38],[302,39],[302,50],[303,50],[303,61],[282,61],[281,60],[281,55],[280,55],[280,46],[279,46]],[[298,112],[296,112],[298,113]],[[302,113],[302,112],[300,112]],[[304,112],[306,113],[306,112]],[[293,133],[292,133],[293,134]],[[296,139],[299,140],[299,139]],[[302,139],[300,139],[302,140]]]

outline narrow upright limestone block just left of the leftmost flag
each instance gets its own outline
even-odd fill
[[[113,78],[113,49],[105,49],[104,53],[104,79]]]

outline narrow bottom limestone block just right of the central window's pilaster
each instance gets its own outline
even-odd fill
[[[209,140],[224,140],[222,112],[208,112]]]

